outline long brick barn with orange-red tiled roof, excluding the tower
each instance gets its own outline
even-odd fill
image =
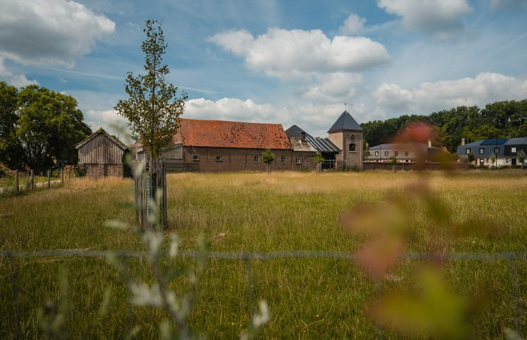
[[[178,165],[200,172],[263,171],[265,149],[275,155],[273,170],[315,168],[315,150],[291,141],[281,124],[180,118],[171,148],[178,159],[168,162],[169,171]]]

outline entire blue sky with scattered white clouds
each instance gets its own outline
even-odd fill
[[[0,80],[75,97],[116,133],[145,19],[162,22],[184,118],[357,122],[527,98],[526,0],[0,0]],[[346,106],[345,106],[346,103]]]

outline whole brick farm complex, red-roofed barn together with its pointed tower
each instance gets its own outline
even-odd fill
[[[362,169],[362,143],[363,130],[347,111],[333,124],[329,138],[313,138],[296,125],[284,131],[281,124],[180,118],[162,158],[168,172],[263,171],[261,154],[270,149],[275,155],[272,170],[315,170],[317,152],[328,160],[324,169]],[[140,144],[130,149],[143,159]]]

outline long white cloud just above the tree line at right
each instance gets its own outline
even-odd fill
[[[485,106],[500,100],[524,99],[527,79],[484,72],[475,78],[421,83],[407,90],[396,84],[382,83],[372,94],[379,106],[397,113],[423,113],[456,106]]]

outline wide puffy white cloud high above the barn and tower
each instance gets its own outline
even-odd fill
[[[318,29],[269,29],[258,37],[247,31],[230,31],[218,33],[209,41],[245,58],[251,70],[262,70],[280,79],[356,72],[390,60],[388,51],[379,42],[347,36],[331,40]]]

